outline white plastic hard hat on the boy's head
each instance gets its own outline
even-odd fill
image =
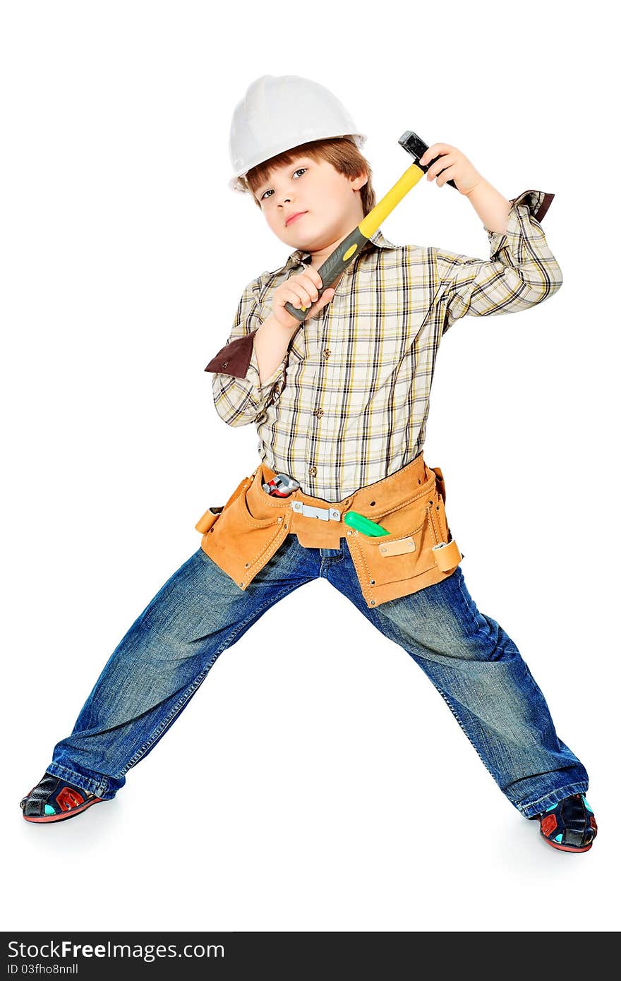
[[[232,190],[248,188],[239,178],[300,143],[352,136],[360,149],[366,135],[324,85],[297,75],[264,75],[248,86],[233,112],[229,152]]]

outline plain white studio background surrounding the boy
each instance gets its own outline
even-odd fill
[[[602,4],[5,4],[0,29],[6,929],[612,930],[618,850],[617,52]],[[591,852],[520,816],[423,673],[326,582],[217,661],[116,800],[19,800],[129,624],[256,463],[207,361],[289,249],[229,190],[261,75],[331,88],[378,200],[414,129],[555,194],[564,275],[443,338],[425,445],[468,588],[591,777]],[[397,243],[489,257],[421,181]],[[615,449],[617,446],[617,449]],[[565,897],[557,903],[554,897]]]

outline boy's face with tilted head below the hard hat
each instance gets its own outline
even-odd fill
[[[326,160],[300,155],[272,171],[255,197],[272,232],[292,248],[318,252],[344,238],[364,218],[360,194],[367,175],[349,178]],[[301,217],[286,224],[296,212]]]

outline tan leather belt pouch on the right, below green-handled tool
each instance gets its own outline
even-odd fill
[[[426,474],[428,479],[412,488],[411,497],[373,516],[388,535],[369,538],[357,531],[348,533],[349,550],[369,606],[440,582],[463,558],[446,521],[440,467],[428,467]]]

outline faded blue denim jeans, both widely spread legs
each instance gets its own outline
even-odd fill
[[[440,583],[369,608],[345,540],[303,548],[289,535],[245,591],[199,548],[129,628],[48,771],[103,800],[179,718],[217,657],[280,599],[327,579],[438,689],[498,787],[525,817],[578,792],[585,767],[556,735],[513,641],[468,593],[461,566]]]

